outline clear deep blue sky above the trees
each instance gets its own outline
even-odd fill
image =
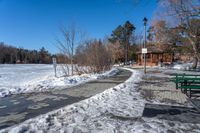
[[[56,53],[61,25],[75,22],[99,39],[129,20],[140,33],[155,7],[156,0],[0,0],[0,42]]]

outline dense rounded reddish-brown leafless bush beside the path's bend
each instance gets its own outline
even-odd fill
[[[77,64],[86,66],[88,72],[109,70],[112,66],[112,57],[108,47],[101,40],[87,40],[77,47]]]

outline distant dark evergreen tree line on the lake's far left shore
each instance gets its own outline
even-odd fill
[[[49,64],[52,62],[52,55],[44,47],[39,51],[27,50],[16,48],[1,42],[0,51],[0,64]]]

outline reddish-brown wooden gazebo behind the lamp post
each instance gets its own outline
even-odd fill
[[[151,46],[147,47],[146,65],[157,66],[159,63],[171,64],[173,62],[173,54],[165,53],[162,49]],[[144,65],[144,54],[137,52],[137,65]]]

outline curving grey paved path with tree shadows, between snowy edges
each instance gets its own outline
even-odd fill
[[[0,129],[21,123],[40,114],[89,98],[114,87],[131,76],[128,70],[63,90],[18,94],[0,98]]]

